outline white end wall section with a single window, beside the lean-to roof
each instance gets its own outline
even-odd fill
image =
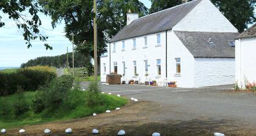
[[[194,56],[182,44],[174,32],[168,33],[168,80],[178,87],[194,87]],[[180,75],[176,74],[176,60],[180,58]]]

